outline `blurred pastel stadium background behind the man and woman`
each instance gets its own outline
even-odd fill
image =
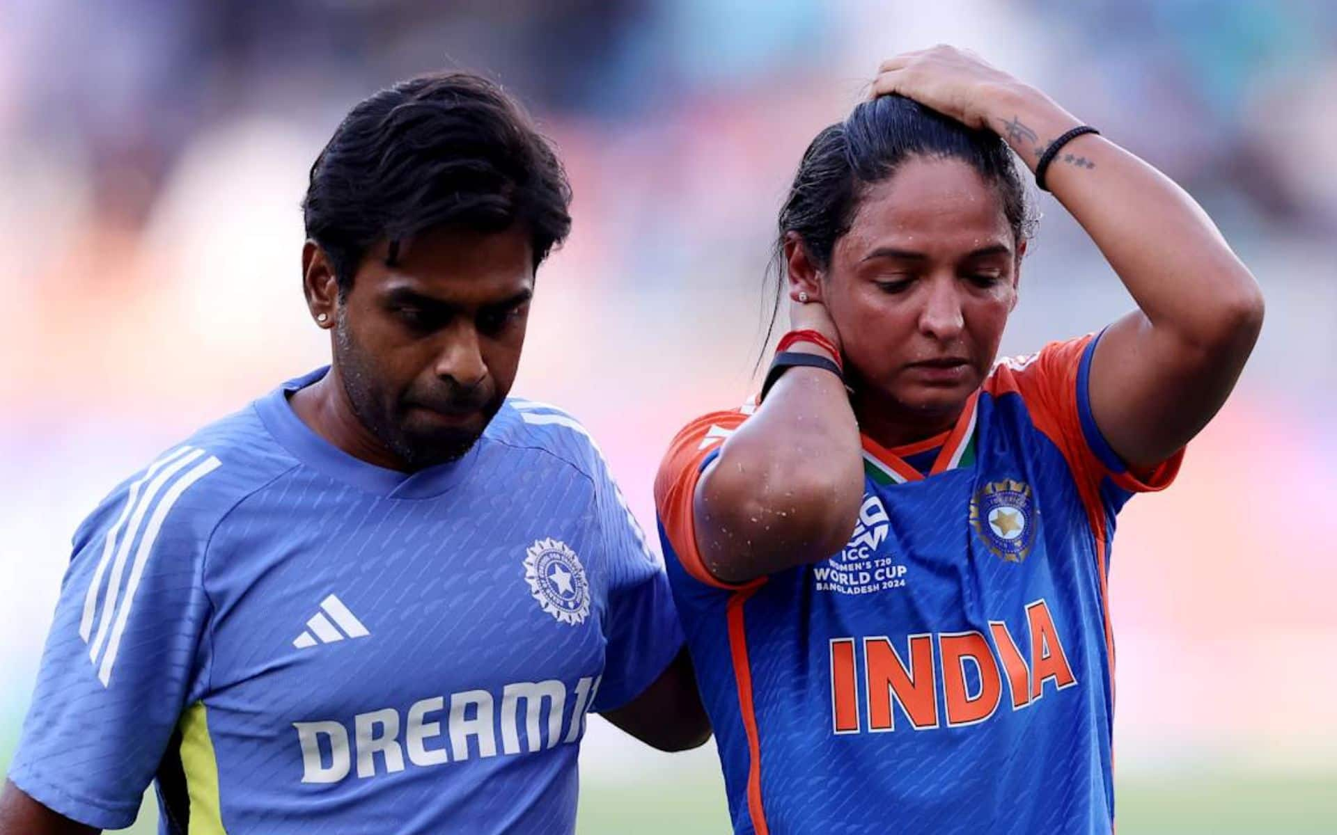
[[[1122,520],[1119,831],[1337,832],[1326,0],[0,0],[0,772],[82,516],[328,355],[298,200],[354,102],[483,69],[558,142],[575,230],[540,273],[516,391],[583,418],[651,528],[673,432],[753,385],[802,148],[880,59],[937,41],[1179,180],[1267,295],[1238,393]],[[1007,353],[1130,306],[1042,208]],[[582,832],[727,831],[713,745],[658,755],[594,723],[582,772]]]

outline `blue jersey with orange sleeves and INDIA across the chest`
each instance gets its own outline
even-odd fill
[[[674,440],[660,534],[737,832],[1111,831],[1110,536],[1181,456],[1120,464],[1092,346],[999,363],[944,436],[865,438],[845,548],[742,585],[702,564],[693,496],[751,410]],[[906,461],[925,456],[927,476]]]

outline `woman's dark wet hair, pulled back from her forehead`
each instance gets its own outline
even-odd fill
[[[836,242],[849,231],[869,186],[880,183],[912,156],[955,158],[995,186],[1017,244],[1035,228],[1025,186],[1012,151],[991,131],[976,131],[904,96],[880,96],[832,124],[804,151],[798,174],[779,210],[773,253],[775,298],[766,341],[785,297],[785,238],[796,232],[820,269],[830,263]]]

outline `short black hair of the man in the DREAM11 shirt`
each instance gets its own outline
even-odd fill
[[[533,266],[571,231],[558,155],[500,87],[468,72],[417,76],[358,103],[312,164],[306,236],[329,257],[340,294],[366,250],[441,224],[528,228]]]

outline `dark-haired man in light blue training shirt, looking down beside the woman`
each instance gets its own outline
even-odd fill
[[[584,429],[508,399],[570,228],[488,81],[362,102],[312,167],[333,363],[207,426],[75,534],[0,835],[570,832],[584,713],[710,733],[663,569]]]

